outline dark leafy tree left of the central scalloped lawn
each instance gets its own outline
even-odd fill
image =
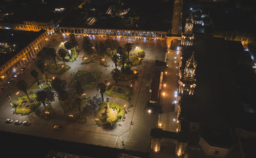
[[[69,98],[69,94],[66,91],[67,82],[65,80],[61,80],[59,77],[54,78],[52,80],[52,88],[57,92],[58,99],[61,101],[65,101]]]

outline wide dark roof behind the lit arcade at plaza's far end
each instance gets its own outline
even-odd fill
[[[124,15],[123,18],[104,14],[113,4],[103,2],[98,6],[86,4],[84,8],[73,10],[70,15],[63,18],[60,22],[60,27],[148,31],[168,31],[171,28],[173,2],[161,1],[155,3],[153,0],[136,2],[133,0],[126,3],[125,6],[129,9],[129,12]],[[102,4],[104,5],[102,6]],[[96,11],[92,11],[92,8],[95,8]],[[92,26],[88,25],[86,22],[90,17],[97,19]],[[134,17],[139,17],[139,19],[132,20]]]

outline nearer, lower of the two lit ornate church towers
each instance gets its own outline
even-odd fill
[[[184,72],[179,80],[179,93],[181,95],[194,95],[196,68],[197,61],[195,60],[195,52],[193,52],[187,60]]]

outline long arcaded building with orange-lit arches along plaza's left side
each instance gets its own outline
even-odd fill
[[[26,38],[24,38],[26,37]],[[13,77],[26,63],[47,44],[49,34],[38,32],[0,29],[0,43],[14,46],[12,52],[0,53],[0,76],[4,81]],[[5,46],[6,46],[5,45]]]

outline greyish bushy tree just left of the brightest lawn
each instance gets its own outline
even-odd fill
[[[93,115],[94,112],[99,108],[102,104],[101,99],[96,95],[93,96],[92,99],[89,100],[84,110],[86,111],[87,115]]]

